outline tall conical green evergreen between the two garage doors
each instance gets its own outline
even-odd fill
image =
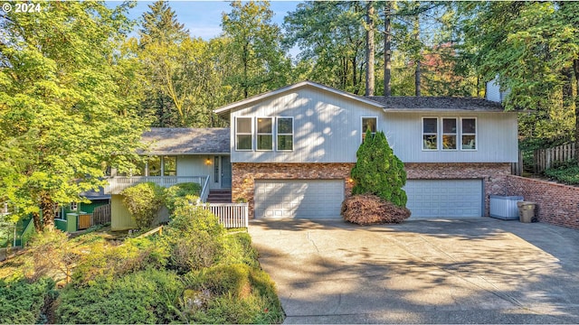
[[[375,194],[398,207],[406,206],[404,164],[390,148],[384,132],[373,136],[367,130],[365,140],[356,152],[356,165],[351,176],[354,180],[352,194]]]

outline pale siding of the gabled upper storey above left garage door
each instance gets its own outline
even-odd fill
[[[361,117],[378,116],[380,120],[382,114],[380,108],[338,97],[324,90],[292,90],[232,113],[232,162],[354,163],[356,150],[361,143]],[[253,151],[235,151],[236,116],[294,117],[294,150],[256,151],[254,135]]]

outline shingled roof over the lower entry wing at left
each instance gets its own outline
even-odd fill
[[[141,136],[151,154],[229,153],[229,128],[153,127]]]

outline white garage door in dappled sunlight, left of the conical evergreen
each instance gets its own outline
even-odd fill
[[[255,218],[340,218],[342,180],[256,180]]]

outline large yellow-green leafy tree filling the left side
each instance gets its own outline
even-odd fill
[[[55,203],[103,185],[107,166],[127,169],[144,129],[138,89],[126,87],[131,59],[119,51],[127,6],[41,7],[0,16],[0,198],[32,213],[39,231],[53,228]]]

